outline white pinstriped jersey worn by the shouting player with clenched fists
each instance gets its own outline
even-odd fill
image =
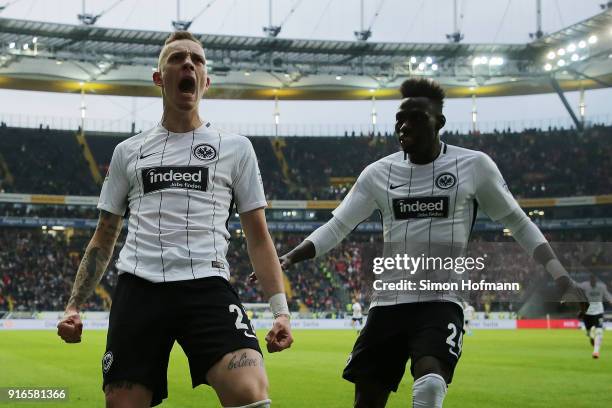
[[[187,133],[161,125],[117,145],[98,208],[123,216],[117,269],[152,282],[229,279],[232,207],[266,206],[251,142],[206,123]]]

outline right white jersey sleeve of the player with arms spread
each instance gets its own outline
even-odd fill
[[[483,211],[493,221],[499,221],[511,212],[520,210],[495,162],[486,154],[480,155],[476,160],[476,201]]]

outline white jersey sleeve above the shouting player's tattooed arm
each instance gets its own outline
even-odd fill
[[[115,147],[98,199],[98,209],[121,217],[125,215],[127,209],[129,191],[124,152],[122,145]]]

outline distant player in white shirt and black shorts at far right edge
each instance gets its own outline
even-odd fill
[[[603,341],[603,300],[612,305],[612,295],[608,292],[606,284],[598,281],[595,273],[591,273],[591,279],[579,283],[589,300],[589,309],[584,314],[584,328],[593,346],[593,358],[599,358],[599,349]]]

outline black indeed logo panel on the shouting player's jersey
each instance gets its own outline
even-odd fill
[[[206,191],[208,186],[208,167],[147,167],[142,169],[142,184],[145,194],[168,188]]]

